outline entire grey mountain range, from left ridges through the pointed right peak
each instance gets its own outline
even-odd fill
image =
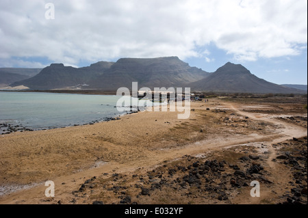
[[[307,93],[277,85],[251,74],[240,64],[228,62],[215,72],[191,67],[178,57],[121,58],[117,62],[97,62],[83,68],[51,64],[34,77],[10,86],[25,85],[31,90],[84,89],[116,91],[119,87],[191,87],[192,91],[247,93]]]

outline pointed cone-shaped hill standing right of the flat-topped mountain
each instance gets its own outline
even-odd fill
[[[303,93],[291,87],[284,87],[260,79],[240,64],[228,62],[209,77],[190,83],[192,90],[207,92],[240,93]]]

